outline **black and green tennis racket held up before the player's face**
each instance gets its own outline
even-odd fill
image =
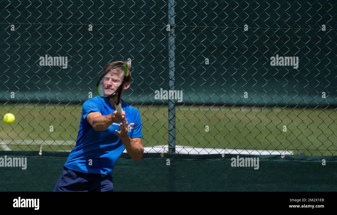
[[[126,65],[124,63],[115,63],[104,70],[96,83],[98,96],[113,101],[116,104],[118,113],[122,113],[122,106],[119,101],[122,97],[122,87],[126,75]]]

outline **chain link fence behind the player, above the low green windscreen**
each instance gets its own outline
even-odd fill
[[[103,67],[128,60],[146,152],[337,154],[334,1],[0,4],[0,150],[71,150]]]

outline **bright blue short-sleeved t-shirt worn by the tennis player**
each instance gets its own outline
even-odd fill
[[[139,111],[122,100],[122,108],[128,123],[134,123],[127,133],[129,137],[143,137],[142,121]],[[109,115],[115,109],[109,100],[96,96],[84,102],[80,130],[76,139],[75,148],[69,153],[64,164],[71,170],[83,173],[98,173],[110,175],[115,163],[125,149],[122,140],[115,130],[120,131],[120,123],[113,123],[105,131],[95,131],[87,121],[90,112],[100,112]]]

